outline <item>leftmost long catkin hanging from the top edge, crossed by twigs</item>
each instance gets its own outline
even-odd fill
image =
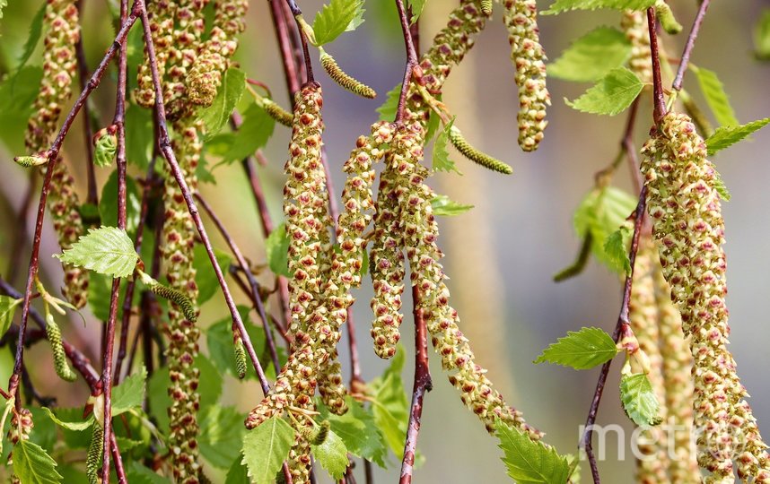
[[[32,155],[48,150],[57,132],[62,108],[72,95],[77,63],[74,46],[80,38],[76,4],[75,0],[49,0],[46,4],[43,77],[25,137],[27,151]],[[79,205],[74,178],[64,161],[59,159],[48,191],[48,211],[63,250],[70,248],[83,235]],[[85,306],[88,298],[88,272],[69,264],[64,264],[64,271],[65,297],[74,307]]]

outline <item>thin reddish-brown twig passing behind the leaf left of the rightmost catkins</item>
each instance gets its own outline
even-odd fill
[[[639,193],[639,202],[636,203],[636,210],[634,211],[634,237],[631,240],[631,250],[629,251],[628,258],[631,260],[631,273],[626,275],[626,283],[623,289],[623,299],[620,304],[620,314],[617,316],[617,324],[615,325],[615,331],[612,333],[612,339],[617,342],[617,338],[620,336],[620,327],[623,324],[628,324],[628,305],[631,301],[631,289],[634,281],[634,264],[636,263],[636,253],[639,250],[639,237],[642,233],[644,210],[647,206],[647,187],[643,186]],[[601,402],[601,395],[604,393],[604,385],[607,383],[607,376],[609,374],[609,367],[612,364],[610,359],[607,363],[601,366],[599,372],[599,381],[596,383],[596,390],[593,393],[593,399],[591,400],[591,408],[588,412],[588,418],[585,422],[585,429],[581,439],[581,445],[585,448],[586,456],[588,457],[589,465],[591,466],[591,476],[593,477],[594,484],[600,484],[599,479],[599,467],[596,463],[596,456],[593,454],[593,446],[591,445],[591,437],[593,436],[593,426],[596,423],[596,416],[599,412],[599,402]]]

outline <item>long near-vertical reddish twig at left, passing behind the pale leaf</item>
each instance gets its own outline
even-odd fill
[[[120,0],[120,23],[128,18],[128,0]],[[118,89],[115,96],[115,117],[112,124],[118,138],[116,165],[118,166],[118,229],[126,229],[126,84],[127,84],[127,49],[120,48],[118,54]],[[104,392],[104,432],[101,454],[101,481],[109,483],[109,450],[115,439],[112,433],[112,354],[115,345],[115,325],[118,320],[118,300],[120,298],[120,278],[112,280],[112,293],[109,296],[109,317],[105,326],[105,345],[101,360],[101,388]],[[115,460],[116,468],[122,466],[120,456]]]

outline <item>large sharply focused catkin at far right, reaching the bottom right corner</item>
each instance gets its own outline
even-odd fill
[[[716,172],[690,118],[669,113],[643,147],[648,211],[694,358],[698,463],[706,482],[770,482],[766,445],[728,350],[724,221]]]

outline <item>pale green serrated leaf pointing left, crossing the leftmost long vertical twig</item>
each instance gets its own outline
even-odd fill
[[[125,230],[104,226],[88,229],[88,234],[79,238],[71,248],[54,256],[66,264],[113,277],[130,276],[139,260],[134,243]]]

